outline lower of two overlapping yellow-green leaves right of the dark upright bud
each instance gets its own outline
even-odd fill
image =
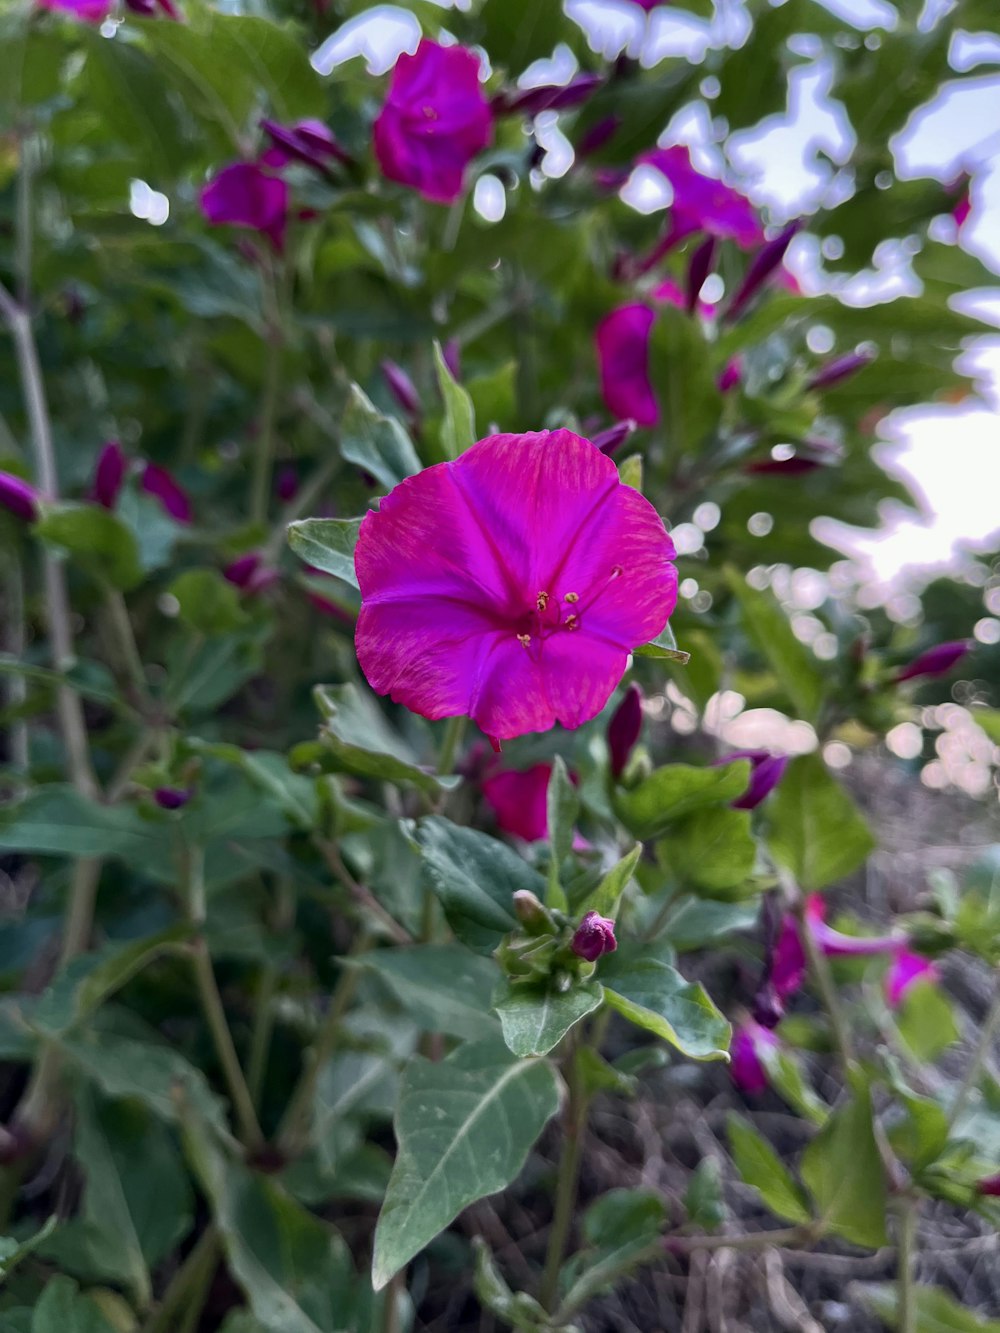
[[[749,810],[719,805],[695,810],[669,829],[656,852],[679,878],[709,897],[745,897],[757,857]]]

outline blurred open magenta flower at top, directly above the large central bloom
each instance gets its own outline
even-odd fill
[[[436,204],[453,204],[465,168],[493,140],[493,116],[479,81],[479,57],[465,47],[424,39],[401,55],[375,121],[383,175]]]

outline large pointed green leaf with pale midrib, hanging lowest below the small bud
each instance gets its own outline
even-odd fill
[[[559,1100],[547,1061],[512,1060],[493,1042],[407,1065],[396,1164],[375,1232],[376,1290],[463,1208],[511,1184]]]

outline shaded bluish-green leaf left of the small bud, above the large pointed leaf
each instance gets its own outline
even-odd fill
[[[499,970],[492,958],[459,944],[417,944],[369,950],[357,965],[375,972],[428,1032],[467,1040],[496,1032],[492,996]]]

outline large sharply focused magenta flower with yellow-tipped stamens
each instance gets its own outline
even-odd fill
[[[580,726],[677,600],[653,507],[569,431],[497,435],[361,524],[356,648],[379,694],[509,740]]]

